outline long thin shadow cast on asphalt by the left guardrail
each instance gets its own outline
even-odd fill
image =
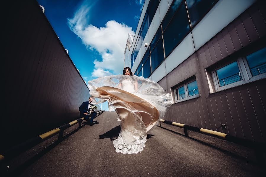
[[[75,130],[73,130],[72,132],[68,133],[67,135],[63,136],[61,139],[57,139],[57,141],[55,141],[53,144],[49,145],[48,147],[46,147],[45,149],[43,149],[41,152],[39,152],[36,155],[33,155],[32,157],[30,157],[28,160],[24,161],[23,164],[17,166],[17,168],[12,169],[11,171],[5,171],[4,168],[2,168],[3,166],[1,165],[0,168],[0,172],[4,173],[3,176],[18,176],[19,174],[21,174],[26,168],[28,168],[31,164],[33,164],[35,161],[39,160],[43,155],[45,155],[46,153],[48,153],[51,149],[53,149],[54,147],[56,147],[57,145],[60,144],[60,142],[64,141],[65,139],[67,139],[68,137],[70,137],[70,135],[73,135],[75,132],[77,132],[78,130],[80,130],[82,127],[84,127],[84,123],[83,125],[81,125],[81,127],[76,128]],[[2,174],[1,174],[2,175]]]

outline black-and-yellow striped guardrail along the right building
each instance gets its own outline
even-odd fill
[[[159,119],[160,122],[160,127],[162,127],[162,122],[165,124],[170,124],[170,125],[174,125],[176,127],[180,127],[184,129],[184,135],[186,137],[188,137],[188,130],[192,130],[194,132],[199,132],[205,135],[211,135],[214,137],[218,137],[221,138],[223,140],[227,140],[239,145],[244,145],[246,147],[252,148],[255,150],[255,155],[257,157],[257,160],[261,163],[265,163],[264,157],[263,157],[263,152],[265,152],[266,150],[266,144],[262,143],[262,142],[254,142],[251,140],[246,140],[246,139],[242,139],[242,138],[238,138],[235,136],[230,136],[228,134],[222,133],[222,132],[217,132],[217,131],[213,131],[213,130],[208,130],[208,129],[204,129],[204,128],[199,128],[199,127],[193,127],[190,125],[186,125],[186,124],[180,124],[177,122],[171,122],[171,121],[167,121],[164,119]],[[223,126],[223,125],[222,125]],[[225,126],[225,125],[224,125]]]

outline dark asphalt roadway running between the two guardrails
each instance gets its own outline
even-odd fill
[[[167,124],[148,132],[141,153],[116,153],[117,118],[116,112],[104,112],[93,126],[70,127],[62,141],[54,136],[6,162],[4,172],[32,177],[266,176],[253,150],[196,132],[185,137],[183,129]]]

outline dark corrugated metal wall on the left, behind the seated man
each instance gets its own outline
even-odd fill
[[[1,149],[79,117],[89,90],[36,1],[12,1],[4,21]]]

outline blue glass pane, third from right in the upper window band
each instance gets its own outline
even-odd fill
[[[151,52],[151,72],[157,68],[159,64],[164,60],[164,51],[162,45],[162,37],[159,39],[157,45]]]

